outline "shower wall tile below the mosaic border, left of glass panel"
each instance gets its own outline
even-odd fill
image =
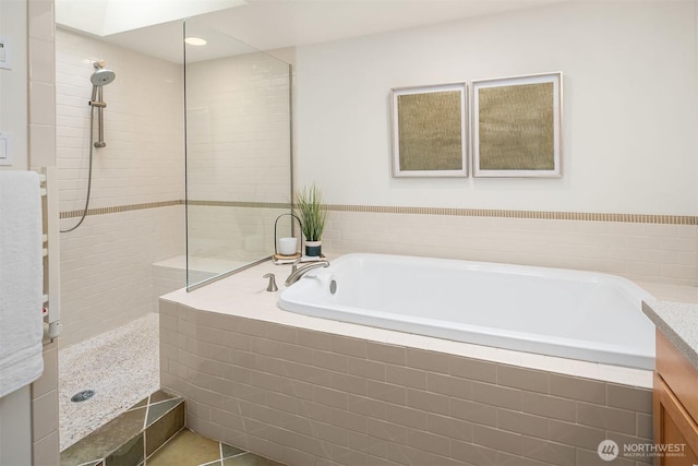
[[[151,264],[182,253],[183,208],[88,216],[61,235],[61,347],[157,311],[153,296],[163,283]],[[65,228],[75,219],[62,222]]]

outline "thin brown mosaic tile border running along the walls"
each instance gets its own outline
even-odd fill
[[[184,200],[151,202],[144,204],[117,205],[113,207],[89,208],[87,215],[117,214],[128,211],[145,208],[169,207],[184,205]],[[255,207],[255,208],[290,208],[284,202],[236,202],[236,201],[190,201],[189,205],[205,205],[212,207]],[[613,222],[628,224],[662,224],[662,225],[698,225],[698,216],[690,215],[649,215],[649,214],[604,214],[594,212],[544,212],[544,211],[506,211],[496,208],[454,208],[454,207],[401,207],[389,205],[345,205],[327,204],[330,212],[352,212],[371,214],[408,214],[408,215],[447,215],[456,217],[498,217],[498,218],[529,218],[545,220],[576,220],[576,222]],[[80,217],[81,211],[61,212],[61,218]]]

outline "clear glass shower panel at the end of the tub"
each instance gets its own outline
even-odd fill
[[[184,35],[206,40],[184,46],[191,288],[275,252],[291,201],[291,67],[197,20]]]

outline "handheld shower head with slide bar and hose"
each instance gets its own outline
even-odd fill
[[[89,207],[89,193],[92,192],[92,159],[93,159],[93,147],[106,147],[107,143],[105,142],[105,107],[107,104],[104,100],[103,88],[107,84],[110,84],[113,80],[117,79],[117,73],[111,70],[107,70],[105,68],[104,60],[95,61],[93,65],[95,67],[95,72],[89,76],[89,82],[92,82],[92,98],[89,99],[89,167],[87,169],[87,194],[85,195],[85,206],[83,207],[83,213],[80,216],[80,220],[72,226],[71,228],[61,230],[61,232],[69,232],[77,228],[85,220],[85,216],[87,215],[87,208]],[[99,138],[97,141],[94,141],[95,138],[95,109],[97,109],[97,132]],[[94,142],[94,143],[93,143]]]

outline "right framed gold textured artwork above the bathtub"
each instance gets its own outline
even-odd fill
[[[473,177],[561,177],[562,88],[561,72],[473,81]]]

